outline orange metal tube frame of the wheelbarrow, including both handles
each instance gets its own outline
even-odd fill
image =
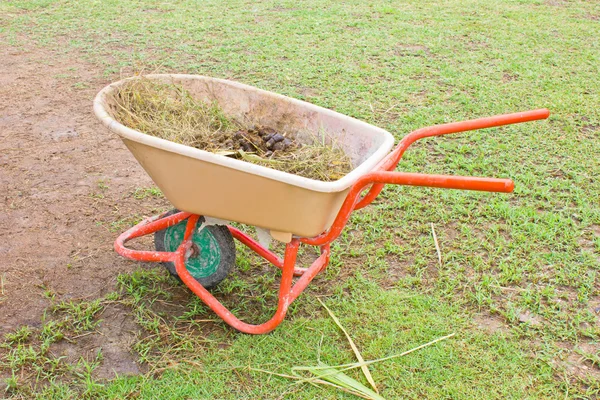
[[[363,175],[350,189],[346,200],[342,204],[337,217],[331,228],[323,234],[314,238],[293,238],[286,245],[283,259],[278,255],[260,245],[244,232],[229,226],[234,238],[248,246],[265,260],[282,270],[281,283],[279,285],[279,302],[275,315],[267,322],[260,325],[252,325],[236,318],[225,308],[208,290],[196,281],[185,267],[186,254],[192,245],[194,228],[199,215],[180,212],[168,217],[155,216],[129,229],[121,234],[115,241],[115,250],[123,257],[139,261],[170,261],[175,263],[177,274],[183,283],[206,303],[219,317],[233,328],[250,334],[263,334],[275,329],[287,312],[289,305],[302,293],[310,281],[321,272],[329,263],[330,244],[344,229],[344,226],[354,210],[369,205],[381,192],[385,184],[439,187],[445,189],[479,190],[487,192],[512,192],[514,183],[510,179],[475,178],[451,175],[428,175],[406,172],[396,172],[396,166],[400,162],[406,149],[419,139],[431,136],[446,135],[449,133],[465,132],[476,129],[491,128],[495,126],[509,125],[520,122],[534,121],[548,118],[550,115],[546,109],[533,110],[514,114],[498,115],[489,118],[481,118],[471,121],[455,122],[450,124],[436,125],[418,129],[404,137],[398,146],[368,174]],[[368,192],[361,194],[368,189]],[[156,231],[166,229],[187,219],[186,232],[183,242],[175,252],[138,251],[125,247],[125,243],[131,239],[148,235]],[[296,267],[296,255],[300,243],[312,246],[320,246],[321,255],[308,268]],[[293,277],[299,279],[293,283]]]

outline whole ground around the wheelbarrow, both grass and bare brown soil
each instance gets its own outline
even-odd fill
[[[373,365],[385,398],[597,398],[600,10],[559,5],[0,2],[2,395],[349,398],[250,370],[352,360],[323,296],[365,359],[456,332]],[[97,91],[131,66],[246,82],[397,139],[529,108],[552,117],[415,145],[405,171],[511,177],[516,191],[386,188],[280,329],[255,337],[112,250],[168,207],[92,115]],[[237,256],[216,296],[264,320],[277,275]],[[132,376],[103,380],[115,374]]]

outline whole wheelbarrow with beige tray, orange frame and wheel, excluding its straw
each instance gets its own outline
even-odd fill
[[[227,324],[249,334],[270,332],[283,321],[289,305],[329,263],[330,245],[350,214],[369,205],[385,184],[513,191],[510,179],[395,171],[411,144],[426,137],[549,116],[548,110],[539,109],[430,126],[406,135],[391,150],[394,138],[389,132],[310,103],[204,76],[161,74],[146,78],[181,85],[196,98],[217,102],[226,115],[249,125],[270,126],[294,132],[297,137],[324,132],[328,140],[335,140],[342,147],[355,166],[337,181],[322,182],[212,154],[118,123],[113,118],[114,94],[128,79],[107,86],[96,96],[96,116],[121,137],[176,207],[122,233],[115,241],[116,252],[132,260],[163,263]],[[286,243],[283,258],[232,225],[209,223],[214,218],[267,230],[273,238]],[[132,239],[150,234],[154,234],[155,251],[125,246]],[[236,318],[208,290],[223,280],[235,264],[234,239],[282,270],[277,310],[262,324]],[[320,248],[320,256],[307,268],[296,266],[301,244]],[[298,277],[295,282],[294,277]]]

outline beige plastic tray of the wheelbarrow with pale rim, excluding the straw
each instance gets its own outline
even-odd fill
[[[96,116],[117,133],[148,175],[178,209],[269,229],[288,241],[326,231],[350,186],[388,154],[393,136],[334,111],[237,82],[198,75],[147,75],[182,85],[199,99],[216,101],[225,114],[248,124],[297,135],[325,133],[351,157],[355,169],[322,182],[216,155],[129,129],[112,118],[112,93],[94,100]],[[129,78],[138,79],[138,78]]]

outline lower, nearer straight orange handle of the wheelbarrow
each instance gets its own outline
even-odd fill
[[[477,178],[471,176],[429,175],[410,172],[378,171],[364,176],[372,183],[390,183],[408,186],[427,186],[445,189],[478,190],[510,193],[515,184],[510,179]]]

